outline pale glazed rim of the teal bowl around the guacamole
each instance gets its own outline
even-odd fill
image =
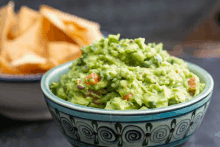
[[[106,109],[100,109],[100,108],[93,108],[93,107],[87,107],[87,106],[82,106],[78,104],[74,104],[68,101],[65,101],[57,96],[55,96],[49,89],[49,80],[53,78],[56,73],[59,73],[62,70],[65,70],[69,68],[70,65],[72,65],[74,61],[70,61],[64,64],[61,64],[59,66],[56,66],[49,71],[47,71],[42,79],[41,79],[41,90],[43,94],[52,102],[57,103],[58,105],[73,109],[75,111],[81,111],[81,112],[86,112],[86,113],[96,113],[96,114],[110,114],[110,115],[146,115],[146,114],[155,114],[155,113],[162,113],[162,112],[168,112],[168,111],[173,111],[176,109],[182,109],[187,106],[193,105],[199,101],[201,101],[203,98],[208,96],[214,87],[214,81],[212,76],[203,68],[199,67],[196,64],[190,63],[188,61],[185,61],[187,63],[187,66],[190,67],[191,69],[196,69],[197,72],[203,73],[202,77],[206,80],[209,81],[208,84],[206,84],[206,88],[203,90],[202,93],[200,93],[198,96],[194,97],[193,99],[179,103],[176,105],[171,105],[168,107],[162,107],[162,108],[156,108],[156,109],[144,109],[144,110],[106,110]]]

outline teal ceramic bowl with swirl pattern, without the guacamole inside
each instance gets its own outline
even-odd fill
[[[209,106],[213,79],[201,67],[188,63],[206,84],[205,90],[190,101],[148,110],[103,110],[64,101],[53,95],[50,83],[69,71],[72,62],[48,71],[41,80],[46,103],[60,131],[80,147],[176,146],[189,140],[199,127]]]

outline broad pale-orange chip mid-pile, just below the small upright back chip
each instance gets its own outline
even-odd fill
[[[42,57],[47,56],[47,42],[42,35],[42,21],[36,21],[27,32],[15,40],[4,43],[10,61],[17,60],[28,52],[34,52]]]

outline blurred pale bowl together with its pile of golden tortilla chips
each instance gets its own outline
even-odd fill
[[[0,8],[0,113],[13,119],[51,119],[40,80],[49,69],[81,56],[100,39],[98,23],[41,5],[39,11],[10,1]]]

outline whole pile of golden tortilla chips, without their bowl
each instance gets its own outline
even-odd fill
[[[41,13],[23,6],[17,16],[10,1],[0,9],[0,71],[44,73],[81,57],[80,47],[100,38],[97,23],[47,6]]]

